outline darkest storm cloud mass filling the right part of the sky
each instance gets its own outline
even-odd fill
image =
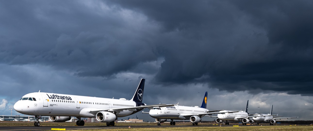
[[[115,1],[116,2],[116,1]],[[162,23],[165,61],[156,83],[312,95],[311,1],[128,1]],[[301,88],[299,90],[299,88]]]

